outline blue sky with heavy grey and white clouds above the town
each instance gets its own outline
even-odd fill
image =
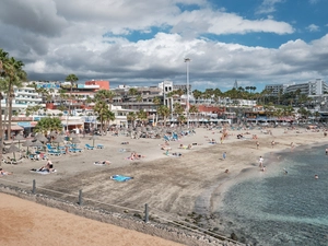
[[[28,80],[192,90],[328,82],[328,0],[1,0]],[[190,62],[185,62],[189,58]],[[187,72],[188,71],[188,72]]]

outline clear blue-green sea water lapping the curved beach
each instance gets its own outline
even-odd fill
[[[328,245],[325,149],[280,153],[279,162],[265,160],[266,172],[255,168],[255,175],[232,186],[218,208],[225,232],[249,245]]]

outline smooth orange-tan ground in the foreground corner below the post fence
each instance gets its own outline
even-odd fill
[[[174,242],[0,194],[0,245],[178,246]]]

